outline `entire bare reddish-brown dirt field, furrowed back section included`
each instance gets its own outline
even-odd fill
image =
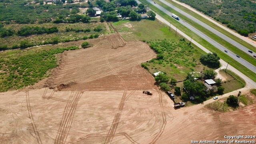
[[[90,43],[64,52],[49,78],[0,93],[0,144],[188,144],[256,135],[255,104],[228,113],[203,104],[174,109],[140,67],[156,57],[146,43],[119,34]]]

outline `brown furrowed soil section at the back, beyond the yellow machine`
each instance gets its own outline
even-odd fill
[[[118,40],[118,36],[119,39]],[[116,43],[120,46],[116,48]],[[92,48],[64,52],[62,63],[48,79],[49,86],[76,82],[65,90],[131,90],[154,86],[154,78],[140,67],[156,54],[144,42],[127,42],[120,35],[102,38]],[[123,80],[120,80],[120,77]]]

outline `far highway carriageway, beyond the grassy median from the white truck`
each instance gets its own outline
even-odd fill
[[[223,40],[226,40],[226,42],[232,44],[233,46],[235,46],[236,48],[244,51],[246,54],[253,56],[256,55],[255,52],[253,54],[248,52],[248,48],[246,48],[245,46],[243,46],[242,44],[239,44],[238,42],[232,40],[231,38],[229,38],[228,36],[222,34],[221,32],[219,32],[218,30],[215,30],[214,28],[212,28],[211,26],[208,26],[207,24],[205,24],[204,22],[198,20],[197,18],[191,16],[190,14],[180,10],[179,8],[177,8],[176,6],[170,4],[169,2],[166,2],[165,0],[160,0],[162,3],[166,4],[167,6],[169,6],[170,8],[174,9],[175,11],[179,12],[180,14],[186,16],[187,18],[193,20],[194,22],[196,22],[197,24],[203,26],[204,28],[206,28],[207,30],[209,30],[210,32],[216,34],[217,36],[219,36],[220,38],[222,38]],[[176,14],[177,15],[177,14]]]

